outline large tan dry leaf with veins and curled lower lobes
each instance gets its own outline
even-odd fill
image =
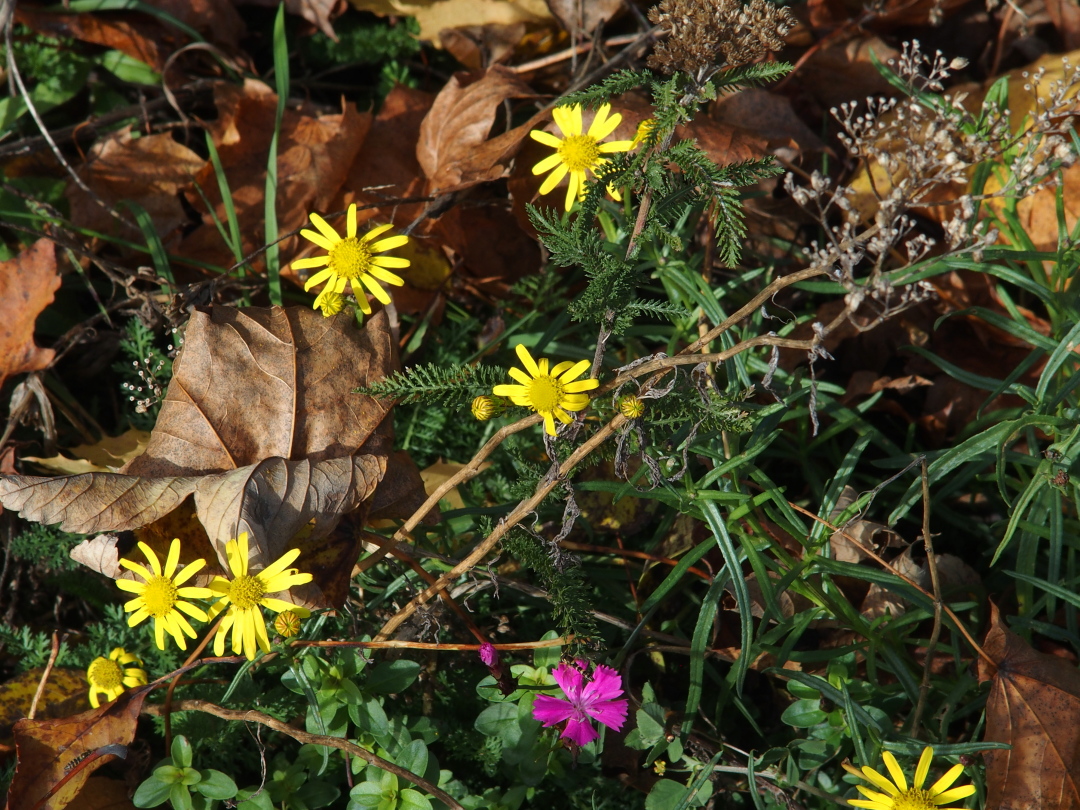
[[[320,541],[375,492],[392,440],[387,406],[351,389],[395,367],[382,312],[357,329],[350,314],[307,308],[197,310],[141,456],[119,473],[5,476],[0,502],[90,534],[146,527],[191,497],[218,568],[242,531],[256,569],[298,545],[297,565],[315,579],[296,595],[327,606],[327,592],[343,593],[341,562],[353,545]],[[393,488],[408,463],[396,459]],[[153,537],[164,553],[168,536]]]

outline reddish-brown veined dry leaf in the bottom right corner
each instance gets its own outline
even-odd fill
[[[1080,808],[1080,670],[1031,649],[1001,621],[991,604],[980,660],[980,680],[990,679],[986,699],[987,810]]]

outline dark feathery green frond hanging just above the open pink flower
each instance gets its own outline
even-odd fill
[[[503,548],[540,578],[551,599],[552,618],[562,635],[575,636],[571,646],[585,645],[597,635],[596,618],[580,565],[564,566],[529,532],[512,529]],[[571,653],[572,654],[572,653]]]

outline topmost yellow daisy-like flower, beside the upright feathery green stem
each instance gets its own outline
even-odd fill
[[[566,189],[566,210],[573,206],[573,201],[584,197],[585,177],[588,173],[595,172],[603,163],[607,162],[603,154],[610,152],[626,152],[634,146],[632,140],[611,140],[602,144],[608,135],[616,131],[622,123],[622,113],[616,112],[608,117],[611,105],[605,104],[596,110],[596,118],[589,126],[589,132],[583,132],[581,123],[581,105],[573,107],[556,107],[551,111],[555,124],[563,132],[565,137],[558,137],[543,130],[532,130],[529,136],[534,140],[539,140],[544,146],[554,147],[555,153],[544,158],[532,166],[532,174],[543,174],[551,172],[540,186],[540,193],[551,192],[566,177],[570,175],[570,184]],[[621,200],[619,192],[608,187],[608,191],[616,200]]]

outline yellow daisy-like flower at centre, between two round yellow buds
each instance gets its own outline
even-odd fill
[[[516,351],[525,372],[511,368],[510,376],[522,384],[496,386],[491,392],[496,396],[505,396],[515,405],[524,405],[540,414],[543,417],[544,430],[549,436],[553,436],[555,419],[557,418],[563,424],[569,424],[571,418],[566,411],[584,410],[589,407],[589,395],[583,392],[599,386],[599,380],[572,381],[589,370],[588,360],[577,363],[566,360],[549,372],[546,359],[541,357],[537,364],[529,350],[521,343],[517,345]]]

